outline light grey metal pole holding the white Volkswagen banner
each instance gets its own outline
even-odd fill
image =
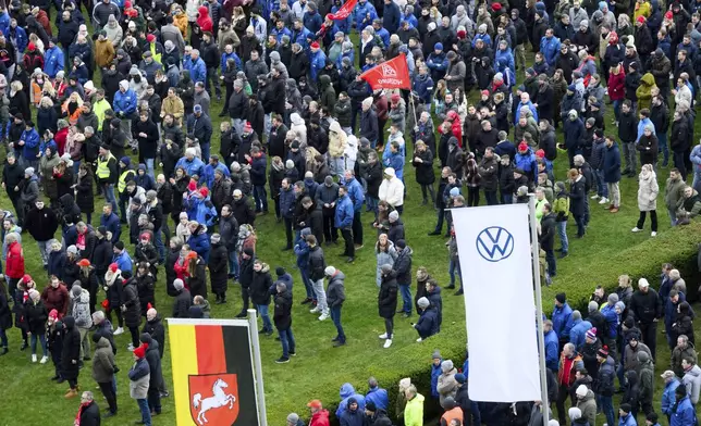
[[[536,218],[536,195],[528,196],[528,212],[530,221],[531,258],[533,261],[533,287],[536,288],[536,323],[538,324],[538,352],[540,356],[540,398],[543,412],[543,426],[550,421],[550,403],[548,402],[548,375],[545,374],[545,335],[543,334],[543,299],[540,290],[540,248],[538,247],[538,220]]]

